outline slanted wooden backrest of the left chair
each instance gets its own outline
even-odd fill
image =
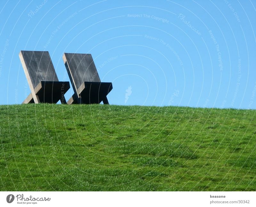
[[[40,81],[59,81],[48,51],[20,51],[20,61],[30,90]]]

